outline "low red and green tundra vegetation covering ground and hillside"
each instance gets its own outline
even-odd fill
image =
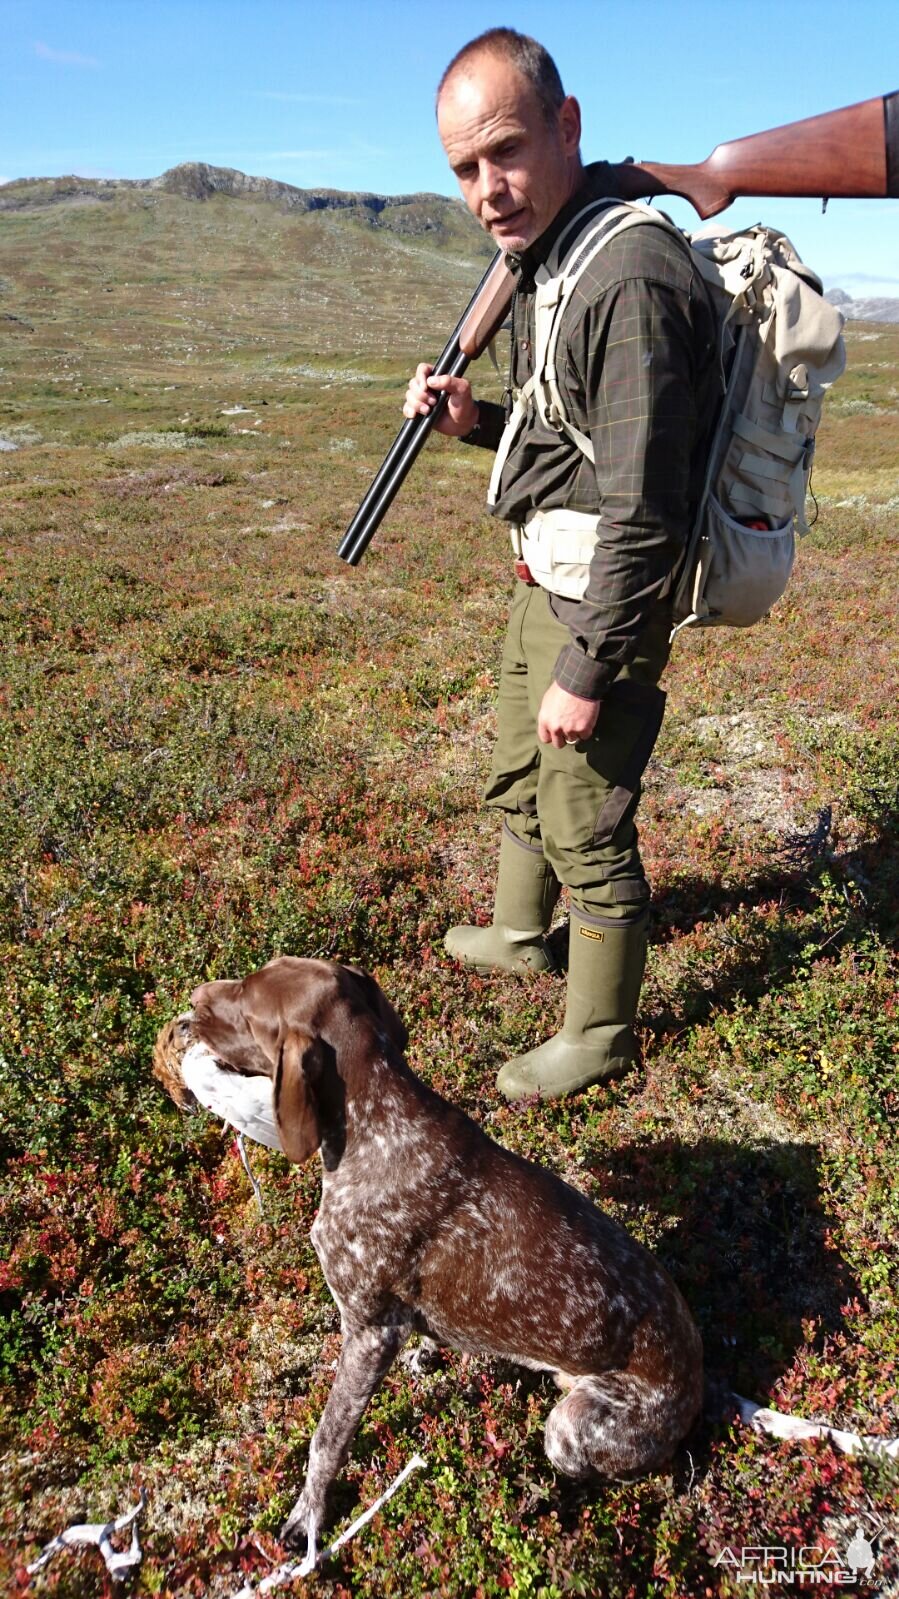
[[[480,240],[253,195],[18,195],[35,203],[0,216],[3,1591],[139,1487],[138,1593],[224,1599],[277,1556],[339,1346],[309,1244],[317,1162],[253,1151],[261,1217],[232,1137],[181,1118],[149,1062],[198,980],[278,953],[365,964],[426,1081],[656,1250],[721,1391],[899,1434],[899,329],[848,329],[785,600],[675,644],[643,804],[643,1067],[507,1107],[496,1067],[558,1025],[563,983],[488,982],[442,951],[493,884],[478,793],[510,569],[488,457],[434,440],[363,566],[334,553]],[[710,1415],[670,1471],[574,1484],[542,1453],[552,1398],[453,1353],[397,1366],[336,1525],[414,1452],[429,1469],[318,1591],[699,1599],[744,1591],[725,1548],[845,1551],[873,1517],[896,1591],[896,1463]],[[34,1588],[106,1581],[88,1549]]]

